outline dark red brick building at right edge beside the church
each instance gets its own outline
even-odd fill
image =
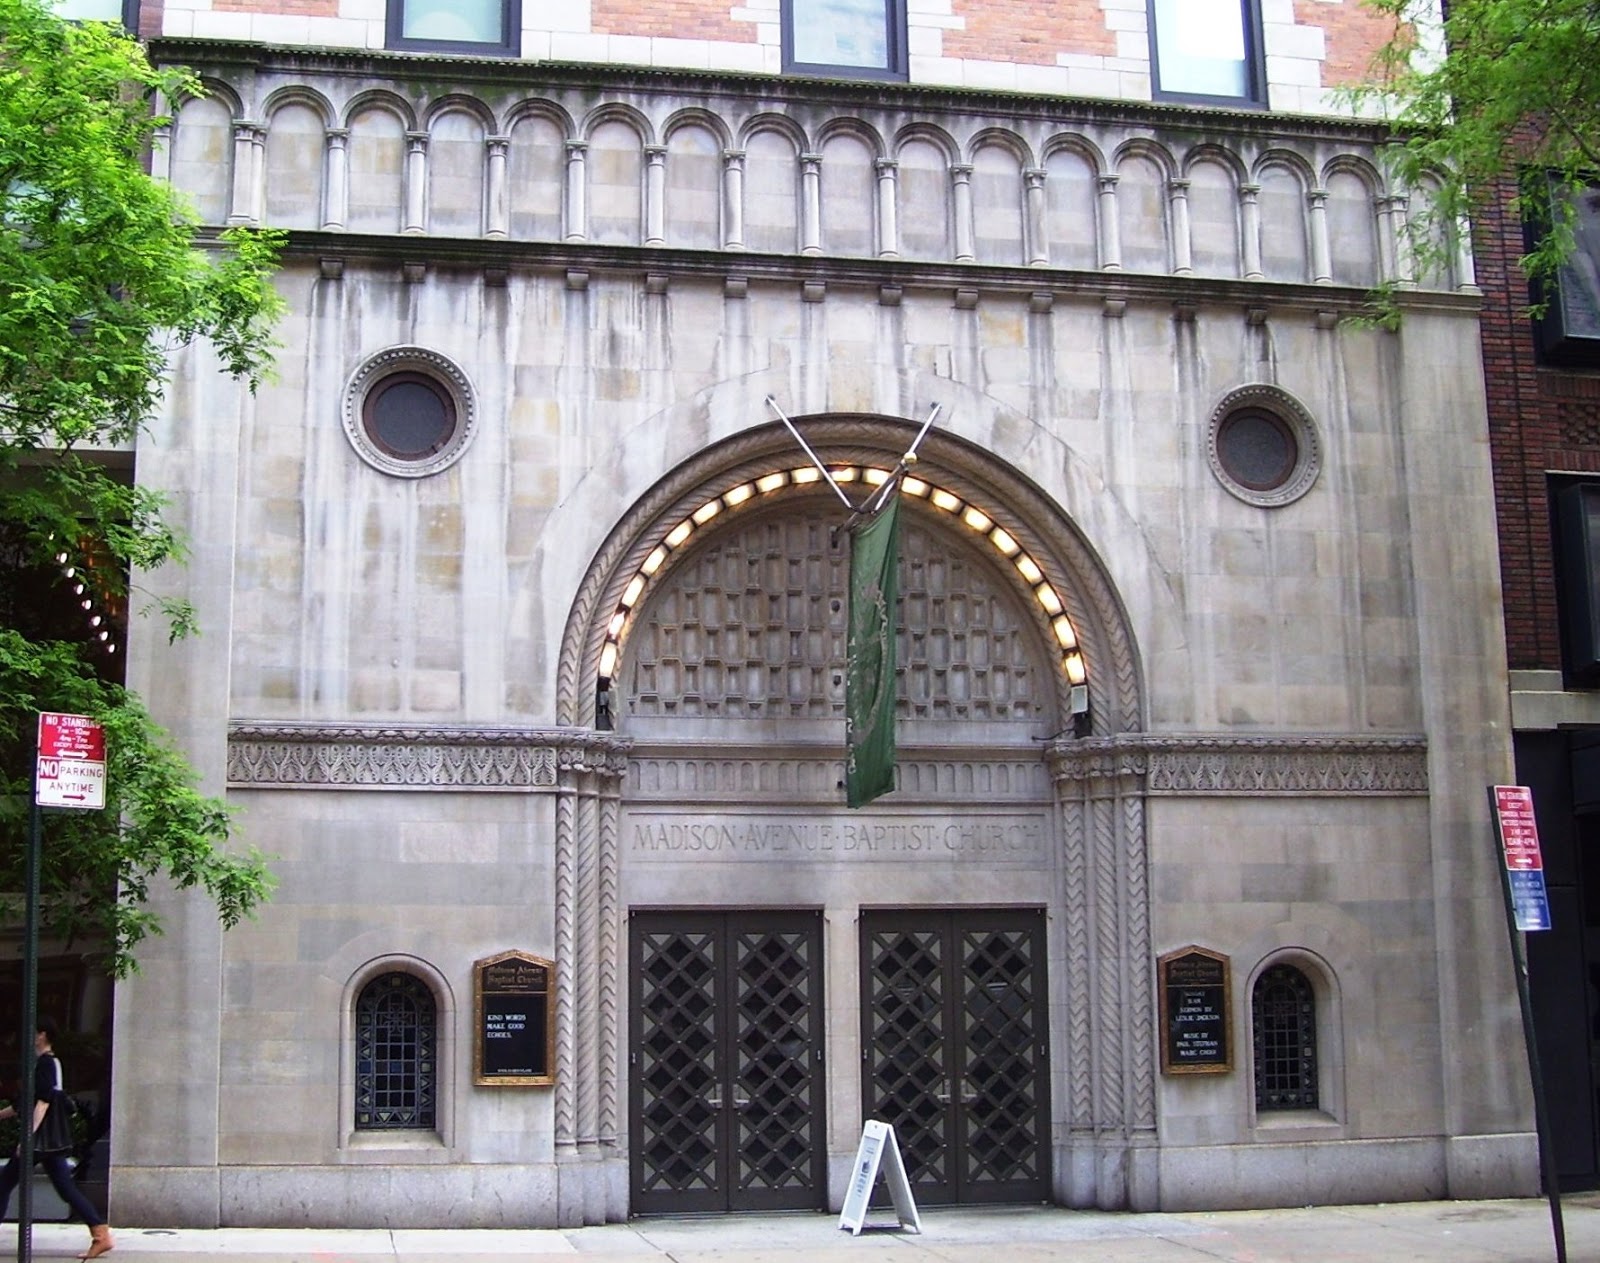
[[[1552,930],[1528,936],[1536,1028],[1565,1188],[1600,1183],[1600,1097],[1595,1036],[1600,1000],[1600,676],[1594,664],[1595,591],[1592,496],[1600,496],[1600,354],[1586,311],[1589,250],[1549,295],[1534,295],[1517,267],[1523,224],[1515,189],[1477,221],[1483,287],[1483,371],[1494,459],[1506,648],[1510,664],[1517,776],[1534,789],[1552,892]],[[1592,208],[1587,211],[1594,215]],[[1565,293],[1562,291],[1565,287]],[[1534,322],[1528,306],[1547,298]]]

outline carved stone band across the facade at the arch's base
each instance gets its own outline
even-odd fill
[[[562,773],[594,773],[619,781],[632,751],[629,738],[589,728],[234,724],[227,741],[227,781],[254,789],[539,791],[555,789]],[[755,762],[765,765],[773,754],[776,751],[762,751]],[[659,767],[672,760],[694,764],[699,794],[749,791],[742,780],[752,762],[747,749],[733,754],[694,744],[672,752],[653,743],[648,764]],[[794,762],[798,767],[790,788],[832,786],[837,778],[838,757],[808,751]],[[1043,749],[1043,762],[1061,788],[1072,781],[1136,776],[1144,778],[1147,794],[1165,797],[1427,794],[1427,741],[1421,736],[1125,733],[1058,741]],[[947,770],[957,764],[989,772],[1005,768],[1010,776],[1019,770],[1016,759],[995,759],[994,752],[904,749],[902,788],[947,791]],[[718,786],[723,776],[730,783]],[[990,783],[990,778],[984,775],[979,783]],[[1016,792],[1022,784],[1013,783],[1010,789]],[[656,794],[645,789],[640,797]]]

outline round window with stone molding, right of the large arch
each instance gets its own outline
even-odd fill
[[[1277,386],[1230,391],[1211,411],[1206,456],[1218,482],[1264,509],[1299,499],[1322,469],[1310,413]]]

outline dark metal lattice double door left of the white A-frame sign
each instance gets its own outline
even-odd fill
[[[821,962],[816,912],[632,917],[637,1213],[824,1205]]]

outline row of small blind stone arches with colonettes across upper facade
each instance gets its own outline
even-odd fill
[[[270,96],[264,125],[219,96],[190,101],[170,174],[214,223],[1360,287],[1414,279],[1398,250],[1408,198],[1384,195],[1352,152],[1314,165],[1272,147],[1246,163],[1214,142],[1178,155],[1128,136],[1107,157],[1082,133],[1034,147],[998,126],[976,128],[963,149],[928,122],[885,142],[859,118],[806,136],[782,115],[733,128],[702,109],[658,131],[621,104],[579,128],[554,102],[525,102],[494,134],[472,101],[437,102],[427,131],[390,93],[352,101],[347,128],[331,128],[331,106],[302,90]],[[232,168],[216,162],[224,130]],[[240,179],[240,154],[256,142],[261,170]]]

